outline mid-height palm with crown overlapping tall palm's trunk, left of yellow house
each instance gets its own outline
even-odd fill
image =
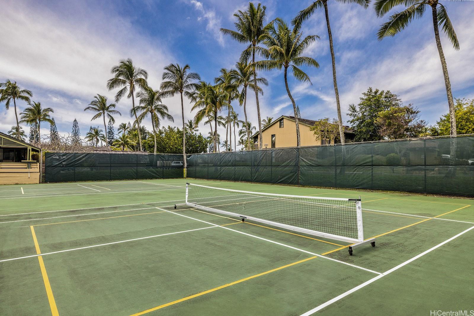
[[[233,74],[235,77],[235,84],[237,88],[242,87],[242,90],[240,91],[239,94],[239,104],[242,106],[244,105],[244,116],[245,116],[245,122],[248,122],[247,120],[247,111],[246,111],[246,102],[247,102],[247,87],[250,90],[256,91],[257,93],[263,94],[262,88],[260,88],[259,85],[268,85],[268,81],[261,77],[261,78],[256,78],[257,84],[254,83],[252,80],[253,75],[255,73],[255,69],[253,66],[248,65],[246,62],[245,63],[236,63],[236,72]],[[245,124],[247,126],[247,124]],[[250,135],[249,131],[247,131],[247,141],[250,141]],[[250,147],[250,144],[247,144],[247,147]]]

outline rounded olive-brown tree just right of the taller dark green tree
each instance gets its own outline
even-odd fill
[[[419,119],[419,112],[411,104],[379,112],[375,119],[375,124],[379,126],[379,134],[384,139],[419,137],[426,126],[426,121]]]

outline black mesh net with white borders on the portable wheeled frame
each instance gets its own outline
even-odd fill
[[[281,196],[188,184],[186,202],[235,216],[358,239],[355,200]]]

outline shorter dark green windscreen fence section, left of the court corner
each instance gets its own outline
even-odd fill
[[[45,181],[106,181],[182,178],[179,154],[45,153]]]

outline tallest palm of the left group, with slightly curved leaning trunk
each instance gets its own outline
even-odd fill
[[[107,88],[113,90],[121,88],[115,95],[115,102],[118,102],[122,97],[127,94],[127,99],[132,98],[132,110],[137,121],[137,113],[135,113],[135,89],[137,87],[142,88],[147,85],[146,79],[148,78],[148,72],[146,70],[136,67],[130,58],[121,59],[118,65],[115,65],[110,70],[110,73],[114,75],[114,78],[107,81]],[[140,151],[142,151],[142,136],[138,129],[138,144]]]

